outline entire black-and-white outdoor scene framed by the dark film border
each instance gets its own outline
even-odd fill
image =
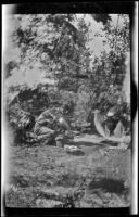
[[[130,15],[15,12],[2,31],[5,207],[130,208]]]

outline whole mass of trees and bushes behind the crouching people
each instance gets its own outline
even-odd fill
[[[67,118],[81,124],[88,122],[96,108],[106,112],[116,106],[119,99],[122,104],[125,103],[123,81],[126,74],[125,54],[130,47],[129,18],[125,14],[117,15],[114,27],[109,14],[90,15],[96,22],[103,24],[101,37],[105,37],[103,44],[109,46],[109,50],[94,56],[92,63],[93,51],[88,48],[91,24],[86,22],[85,16],[12,16],[16,21],[13,43],[20,49],[21,56],[20,62],[16,63],[15,60],[7,64],[5,77],[12,77],[15,68],[18,74],[24,75],[28,68],[34,72],[37,67],[38,72],[43,72],[43,79],[54,80],[54,85],[50,85],[41,79],[34,87],[28,84],[12,85],[8,93],[18,91],[12,101],[13,106],[17,103],[23,111],[37,117],[49,106],[60,105],[64,107]],[[123,25],[119,26],[121,20]]]

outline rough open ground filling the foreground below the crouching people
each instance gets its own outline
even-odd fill
[[[45,144],[11,146],[7,206],[129,207],[130,150],[89,135],[73,144],[78,154]]]

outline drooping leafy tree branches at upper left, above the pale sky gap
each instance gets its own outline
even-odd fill
[[[77,29],[72,14],[18,15],[17,20],[13,36],[22,51],[21,64],[39,62],[41,67],[49,67],[50,76],[59,79],[81,68],[85,39],[80,28],[87,28],[85,23]]]

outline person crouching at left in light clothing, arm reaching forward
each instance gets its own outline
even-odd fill
[[[55,138],[62,133],[72,135],[72,130],[65,118],[63,117],[63,108],[51,108],[42,112],[37,118],[34,132],[39,141],[46,144],[55,144]]]

